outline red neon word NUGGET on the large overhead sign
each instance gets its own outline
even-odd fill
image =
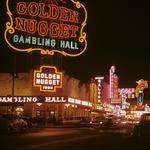
[[[79,30],[78,26],[68,24],[49,23],[48,21],[37,21],[16,17],[15,29],[30,34],[38,33],[40,36],[55,38],[75,38]]]

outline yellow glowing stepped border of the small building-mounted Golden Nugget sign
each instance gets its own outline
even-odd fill
[[[42,89],[42,85],[37,85],[36,83],[36,73],[42,73],[43,68],[46,69],[54,69],[56,74],[60,75],[60,86],[57,85],[53,85],[54,89]],[[33,81],[33,86],[34,87],[40,87],[40,91],[44,91],[44,92],[56,92],[57,88],[62,88],[62,72],[57,72],[57,68],[55,66],[41,66],[40,70],[34,70],[34,81]]]

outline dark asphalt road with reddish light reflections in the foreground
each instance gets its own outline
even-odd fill
[[[1,150],[149,150],[124,132],[92,128],[42,128],[32,132],[0,135]]]

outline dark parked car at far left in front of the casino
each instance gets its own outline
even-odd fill
[[[14,114],[0,115],[0,132],[22,132],[27,130],[28,123],[20,116]]]

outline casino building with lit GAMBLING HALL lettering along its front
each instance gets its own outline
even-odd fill
[[[16,113],[26,116],[69,119],[73,116],[90,116],[92,94],[90,83],[83,84],[65,73],[62,88],[56,92],[40,91],[33,85],[33,72],[0,74],[0,113]],[[13,99],[12,99],[13,96]]]

